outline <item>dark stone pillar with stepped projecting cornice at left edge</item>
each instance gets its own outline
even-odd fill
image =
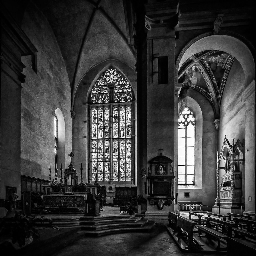
[[[20,197],[21,90],[26,76],[22,56],[37,52],[24,31],[1,3],[1,170],[0,198],[6,186],[15,187]]]

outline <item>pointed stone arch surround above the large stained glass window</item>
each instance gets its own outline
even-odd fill
[[[132,90],[133,90],[133,93],[134,93],[134,96],[136,99],[137,98],[137,90],[136,90],[136,88],[134,88],[134,84],[130,81],[129,77],[127,77],[126,74],[123,72],[123,70],[119,68],[119,65],[126,66],[127,69],[133,73],[133,76],[136,77],[137,74],[136,74],[135,68],[132,68],[131,66],[129,66],[127,63],[125,63],[123,61],[115,60],[115,59],[108,59],[108,60],[102,61],[102,62],[98,63],[97,65],[93,66],[91,69],[89,69],[84,74],[83,78],[80,80],[80,82],[76,88],[76,91],[75,91],[73,97],[75,98],[78,87],[82,83],[83,79],[86,77],[93,77],[94,79],[92,80],[92,82],[90,82],[90,87],[88,88],[87,95],[86,95],[86,102],[88,102],[91,90],[92,90],[94,84],[96,83],[96,81],[102,76],[102,74],[106,70],[108,70],[110,67],[112,67],[112,68],[118,70],[127,79],[127,81],[130,83],[130,85],[132,87]],[[73,100],[73,102],[74,102],[74,100]]]

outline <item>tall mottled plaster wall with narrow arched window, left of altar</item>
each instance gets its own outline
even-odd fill
[[[26,66],[23,73],[27,77],[21,94],[21,174],[47,180],[49,163],[54,173],[54,114],[57,108],[65,119],[65,154],[60,158],[63,169],[70,161],[71,90],[53,31],[32,3],[25,11],[22,29],[38,54],[37,72],[31,68],[30,56],[22,58]]]

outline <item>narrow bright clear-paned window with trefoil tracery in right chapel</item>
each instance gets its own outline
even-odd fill
[[[178,118],[178,184],[195,184],[195,117],[185,107]]]

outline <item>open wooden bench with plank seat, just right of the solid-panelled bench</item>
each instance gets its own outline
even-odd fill
[[[227,235],[210,228],[211,222],[215,222],[215,220],[218,224],[221,224],[223,226],[223,229],[224,229],[224,226],[228,226]],[[206,238],[214,237],[217,239],[218,246],[217,246],[216,250],[220,249],[220,239],[224,239],[227,241],[229,239],[229,237],[232,236],[232,224],[230,224],[229,222],[223,221],[223,220],[218,220],[218,219],[214,219],[214,218],[210,218],[210,217],[206,217],[206,227],[197,226],[197,228],[199,231],[199,235],[198,235],[199,237],[206,237]],[[222,229],[222,231],[223,231],[223,229]],[[202,232],[208,234],[209,236],[202,236],[201,235]],[[226,248],[225,248],[225,250],[226,250]]]

